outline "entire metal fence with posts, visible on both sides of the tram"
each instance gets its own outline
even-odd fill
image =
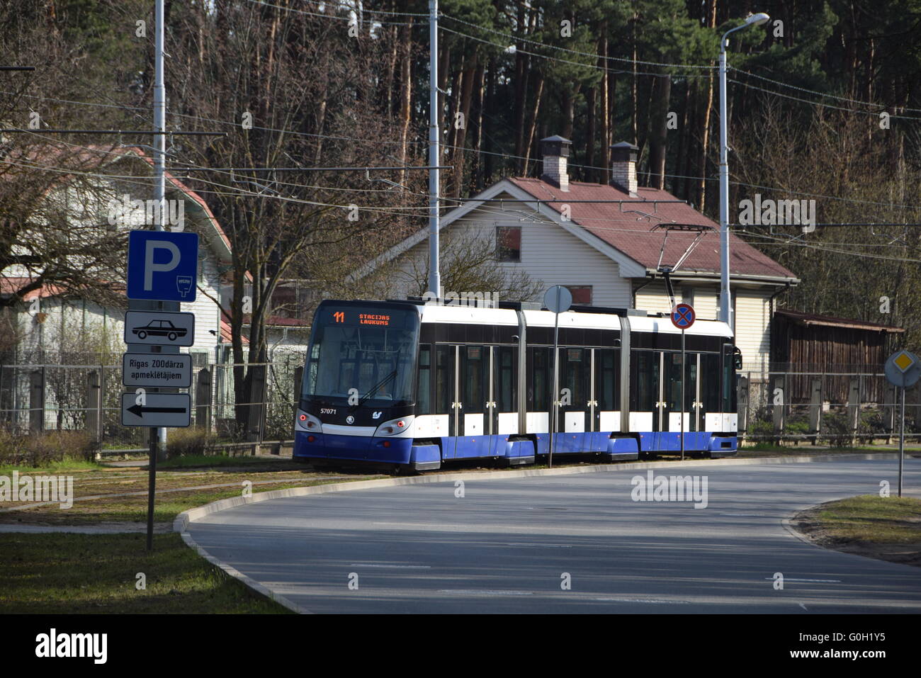
[[[73,364],[0,365],[0,427],[18,434],[84,430],[102,450],[145,448],[146,428],[122,426],[121,395],[130,391],[122,386],[122,366],[94,363],[88,354],[69,357]],[[192,426],[221,442],[290,440],[304,357],[275,351],[268,363],[237,366],[192,354],[192,387],[181,390],[192,398]],[[252,372],[250,402],[236,400],[237,367]],[[898,434],[897,392],[880,366],[743,366],[737,392],[739,432],[747,440],[848,444]],[[919,388],[906,392],[905,431],[921,436]]]

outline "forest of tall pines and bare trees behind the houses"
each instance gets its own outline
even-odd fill
[[[609,146],[629,141],[641,185],[714,219],[720,36],[752,12],[769,14],[727,47],[732,228],[801,279],[782,306],[921,339],[921,0],[441,0],[438,9],[445,211],[503,177],[540,173],[539,140],[561,134],[573,142],[572,179],[607,181]],[[36,200],[59,181],[49,162],[71,169],[87,147],[149,145],[41,130],[149,129],[153,12],[152,0],[0,8],[0,65],[35,66],[0,72],[0,120],[23,130],[2,135],[0,269],[24,263],[44,283],[111,294],[57,265],[61,239],[29,241],[28,261],[21,246],[35,224],[54,223]],[[167,166],[232,243],[234,356],[259,361],[262,321],[284,312],[272,299],[285,281],[359,297],[367,289],[344,272],[426,227],[425,171],[298,169],[426,165],[428,2],[174,0],[165,28],[167,127],[227,133],[170,137]],[[42,162],[49,155],[37,149],[48,147],[55,154]],[[104,172],[75,176],[91,183]],[[756,194],[815,200],[816,228],[741,224],[740,204]],[[101,261],[112,248],[99,250]],[[454,268],[446,286],[471,275]],[[5,284],[6,306],[28,292]]]

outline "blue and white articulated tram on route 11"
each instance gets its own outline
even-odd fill
[[[529,464],[549,452],[554,314],[421,301],[321,302],[311,329],[294,457],[426,471],[466,459]],[[604,460],[737,450],[729,326],[574,307],[559,317],[554,455]]]

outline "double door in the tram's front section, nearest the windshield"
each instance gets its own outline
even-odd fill
[[[455,458],[485,457],[489,450],[489,346],[457,345],[454,411],[457,421]]]

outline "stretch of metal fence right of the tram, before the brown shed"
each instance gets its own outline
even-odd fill
[[[739,431],[752,441],[889,442],[899,433],[900,397],[881,365],[743,367]],[[905,392],[905,434],[921,434],[921,389]]]

